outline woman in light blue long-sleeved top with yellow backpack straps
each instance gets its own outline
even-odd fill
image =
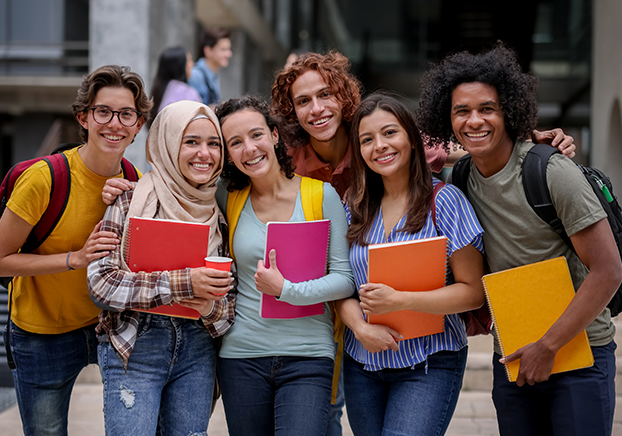
[[[335,357],[330,311],[265,319],[259,315],[260,297],[308,305],[352,295],[345,212],[330,184],[294,175],[266,102],[229,100],[216,108],[216,115],[229,161],[217,199],[227,210],[239,277],[236,323],[223,338],[218,364],[227,426],[233,436],[321,436]],[[292,283],[278,270],[279,253],[269,253],[270,268],[263,264],[266,223],[305,221],[303,183],[319,185],[313,199],[321,195],[323,218],[330,220],[327,274]]]

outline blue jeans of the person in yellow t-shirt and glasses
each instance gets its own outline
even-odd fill
[[[30,333],[13,322],[10,328],[24,435],[66,436],[73,385],[84,367],[97,363],[95,326],[58,335]]]

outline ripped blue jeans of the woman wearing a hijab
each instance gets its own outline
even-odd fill
[[[98,348],[106,436],[207,435],[217,350],[200,321],[141,314],[127,371]],[[158,423],[159,421],[159,423]]]

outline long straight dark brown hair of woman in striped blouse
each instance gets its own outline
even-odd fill
[[[408,108],[396,97],[375,92],[365,98],[352,118],[350,144],[352,146],[352,180],[346,193],[352,222],[346,238],[350,245],[356,242],[367,245],[365,239],[374,222],[384,195],[382,177],[372,171],[361,156],[359,127],[361,120],[376,110],[386,111],[404,128],[413,151],[410,155],[410,181],[408,186],[408,207],[406,222],[401,229],[416,233],[425,224],[432,202],[432,173],[425,158],[423,141],[415,118]]]

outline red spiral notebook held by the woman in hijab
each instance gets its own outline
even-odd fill
[[[155,218],[130,218],[125,261],[133,272],[174,271],[205,266],[209,225]],[[159,315],[198,319],[201,314],[174,303],[150,310]]]

